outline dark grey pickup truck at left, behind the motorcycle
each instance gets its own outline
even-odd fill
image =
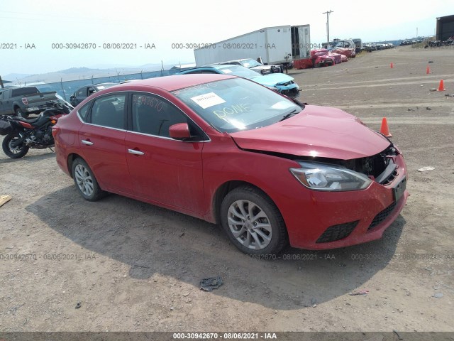
[[[0,115],[28,117],[48,108],[49,101],[57,100],[56,92],[40,92],[36,87],[0,89]]]

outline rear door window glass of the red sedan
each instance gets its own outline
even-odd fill
[[[90,123],[124,129],[126,94],[112,94],[94,100]]]

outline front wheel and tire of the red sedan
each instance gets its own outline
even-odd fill
[[[245,254],[278,254],[288,243],[281,213],[258,188],[242,186],[229,192],[221,204],[221,224]]]

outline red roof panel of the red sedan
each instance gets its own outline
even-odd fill
[[[160,87],[166,91],[174,91],[182,89],[184,87],[192,87],[194,85],[204,84],[208,82],[215,82],[216,80],[225,80],[233,78],[234,76],[218,75],[218,74],[196,74],[196,75],[172,75],[164,77],[148,78],[146,80],[137,80],[135,82],[129,82],[121,85],[117,85],[115,88],[123,87]]]

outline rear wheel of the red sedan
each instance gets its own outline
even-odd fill
[[[106,192],[99,187],[92,170],[82,158],[76,158],[72,162],[72,178],[77,190],[85,200],[96,201],[106,195]]]

